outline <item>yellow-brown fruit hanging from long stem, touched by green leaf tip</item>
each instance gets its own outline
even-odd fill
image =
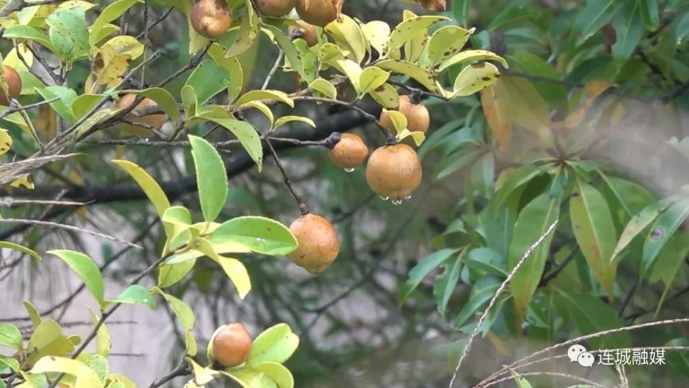
[[[340,238],[330,221],[316,214],[300,216],[289,225],[299,243],[289,254],[296,265],[310,274],[320,274],[340,253]]]

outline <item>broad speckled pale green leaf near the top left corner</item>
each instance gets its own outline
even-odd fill
[[[58,9],[45,23],[50,26],[48,35],[54,52],[61,59],[72,62],[88,54],[88,29],[83,8]]]

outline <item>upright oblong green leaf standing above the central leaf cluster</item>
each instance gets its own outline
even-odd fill
[[[206,221],[214,221],[227,199],[227,172],[220,154],[211,143],[198,136],[189,136],[196,167],[198,197]]]

